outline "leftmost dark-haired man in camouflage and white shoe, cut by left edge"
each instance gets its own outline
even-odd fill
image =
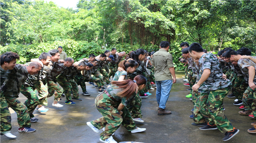
[[[11,114],[9,111],[8,104],[6,102],[5,96],[2,94],[4,91],[4,85],[8,81],[8,75],[10,74],[10,70],[14,68],[16,65],[16,59],[20,59],[20,56],[17,53],[6,52],[1,55],[1,67],[0,67],[0,86],[1,86],[1,135],[5,135],[8,138],[16,138],[13,134],[11,134]]]

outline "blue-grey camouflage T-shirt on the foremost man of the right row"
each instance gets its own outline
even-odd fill
[[[202,76],[202,73],[204,72],[204,69],[210,69],[211,74],[207,78],[207,80],[204,81],[204,84],[202,84],[198,92],[207,93],[207,91],[204,91],[205,87],[208,90],[217,90],[217,89],[223,89],[231,85],[230,80],[224,80],[222,78],[222,70],[220,67],[220,63],[216,56],[214,56],[211,53],[205,53],[201,56],[199,59],[200,64],[200,72],[199,72],[199,79]],[[205,87],[204,87],[205,86]]]

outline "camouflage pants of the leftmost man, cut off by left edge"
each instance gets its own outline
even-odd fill
[[[5,96],[1,93],[1,133],[10,133],[11,132],[11,114],[8,108],[8,104],[6,102]]]

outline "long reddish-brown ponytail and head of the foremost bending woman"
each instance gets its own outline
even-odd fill
[[[147,83],[147,78],[144,77],[143,75],[137,75],[134,77],[133,80],[123,80],[123,81],[112,81],[111,84],[114,86],[118,86],[118,88],[123,88],[123,91],[117,93],[118,96],[120,97],[126,97],[130,98],[134,92],[138,92],[138,86],[139,85],[146,85]]]

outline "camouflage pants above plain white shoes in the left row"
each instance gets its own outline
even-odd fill
[[[48,86],[48,96],[51,97],[54,94],[54,101],[60,101],[61,95],[63,93],[63,88],[56,82],[52,80],[47,81]]]

